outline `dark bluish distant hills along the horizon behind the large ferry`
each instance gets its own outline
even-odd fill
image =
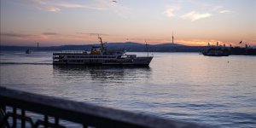
[[[99,44],[96,44],[99,45]],[[126,43],[108,43],[104,44],[108,50],[126,49],[126,51],[144,52],[147,51],[145,44],[126,42]],[[62,46],[50,46],[50,47],[27,47],[27,46],[1,46],[1,50],[90,50],[95,44],[87,45],[62,45]],[[186,46],[182,44],[149,44],[149,52],[200,52],[205,47],[203,46]]]

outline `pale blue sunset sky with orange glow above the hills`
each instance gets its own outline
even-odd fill
[[[1,0],[1,45],[256,45],[255,0]]]

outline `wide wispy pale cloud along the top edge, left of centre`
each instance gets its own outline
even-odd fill
[[[113,3],[110,0],[93,1],[64,1],[64,0],[16,0],[10,3],[19,3],[26,7],[32,7],[48,12],[61,12],[63,9],[95,9],[111,11],[122,18],[127,19],[131,16],[131,9],[122,5],[122,3]]]

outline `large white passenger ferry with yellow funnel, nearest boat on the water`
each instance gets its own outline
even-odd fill
[[[124,49],[119,51],[107,50],[102,43],[102,38],[98,38],[101,45],[93,46],[90,51],[65,50],[53,53],[53,64],[148,66],[153,59],[153,56],[126,55]]]

